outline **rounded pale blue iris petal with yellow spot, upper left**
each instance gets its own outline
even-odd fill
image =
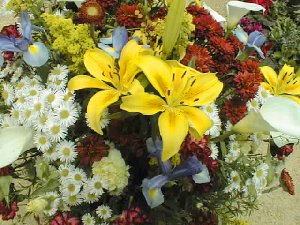
[[[28,65],[39,67],[48,61],[49,51],[43,43],[35,42],[23,53],[23,58]]]

